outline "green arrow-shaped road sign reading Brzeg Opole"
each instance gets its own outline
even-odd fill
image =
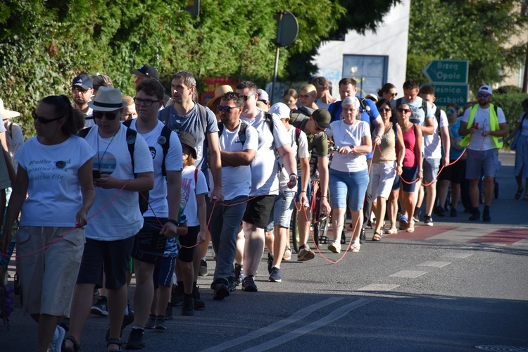
[[[467,83],[467,60],[433,60],[422,73],[433,83]]]

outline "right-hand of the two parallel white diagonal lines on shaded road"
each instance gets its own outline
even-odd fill
[[[289,332],[287,334],[282,335],[281,337],[277,337],[276,339],[272,339],[270,341],[266,341],[263,344],[253,346],[251,348],[248,348],[244,351],[246,352],[260,352],[260,351],[266,351],[271,348],[280,346],[282,344],[287,343],[288,341],[291,341],[293,339],[296,339],[298,337],[301,337],[303,335],[308,334],[309,332],[312,332],[315,329],[319,329],[322,326],[328,325],[331,322],[334,322],[338,319],[343,318],[345,315],[348,314],[351,310],[354,310],[356,308],[359,308],[361,306],[365,306],[365,304],[370,303],[372,299],[367,298],[360,298],[358,301],[353,301],[352,303],[348,303],[345,306],[341,306],[334,310],[329,315],[325,316],[324,318],[321,318],[320,320],[315,320],[315,322],[310,322],[310,324],[300,327],[298,329],[295,329],[292,332]]]

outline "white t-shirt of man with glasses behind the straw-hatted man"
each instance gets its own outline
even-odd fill
[[[136,128],[137,120],[134,119],[130,123],[132,130]],[[149,209],[143,214],[144,217],[158,216],[158,218],[168,218],[169,206],[167,202],[167,181],[163,176],[161,170],[163,165],[163,146],[161,141],[161,130],[163,130],[163,122],[158,120],[158,125],[154,127],[151,132],[142,134],[146,144],[149,146],[149,151],[152,156],[152,163],[154,167],[154,188],[149,191]],[[170,132],[169,149],[167,156],[165,156],[165,170],[167,171],[182,171],[182,144],[176,132]],[[151,210],[154,210],[152,212]]]

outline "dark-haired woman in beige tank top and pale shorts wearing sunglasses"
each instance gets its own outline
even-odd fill
[[[376,106],[379,115],[382,116],[385,132],[382,136],[382,142],[379,146],[375,146],[372,156],[372,196],[376,200],[375,215],[377,219],[372,241],[382,239],[386,200],[391,194],[394,179],[401,175],[406,150],[401,127],[398,125],[396,114],[392,110],[391,101],[382,99]],[[396,146],[398,146],[398,153],[396,153]],[[398,208],[397,200],[396,197],[396,211]],[[389,217],[391,219],[389,233],[396,233],[396,211],[394,211],[394,216]],[[394,232],[390,232],[392,229]]]

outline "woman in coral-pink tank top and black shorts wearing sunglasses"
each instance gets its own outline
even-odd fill
[[[400,176],[400,230],[415,232],[413,210],[416,201],[413,193],[417,180],[421,180],[423,175],[422,130],[410,122],[411,111],[408,103],[400,103],[396,106],[396,111],[398,111],[398,123],[401,127],[403,143],[406,146]]]

